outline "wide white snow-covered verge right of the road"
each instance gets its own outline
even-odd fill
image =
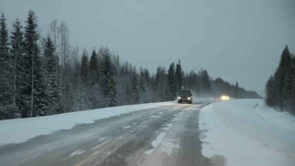
[[[271,112],[271,113],[268,113]],[[280,118],[275,120],[275,114]],[[270,116],[273,115],[273,116]],[[263,107],[261,100],[220,101],[200,112],[202,153],[222,155],[226,166],[294,166],[293,116]],[[283,123],[283,121],[289,121]],[[208,130],[208,131],[207,131]]]

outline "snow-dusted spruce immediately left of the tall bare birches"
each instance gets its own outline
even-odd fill
[[[44,39],[44,57],[45,57],[45,74],[48,95],[48,115],[61,113],[60,108],[60,89],[57,83],[56,75],[56,57],[54,55],[54,45],[50,37]]]

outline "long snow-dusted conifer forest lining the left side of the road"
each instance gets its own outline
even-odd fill
[[[211,79],[206,70],[185,74],[180,61],[151,74],[121,61],[108,48],[80,52],[70,46],[65,22],[53,20],[48,36],[41,37],[36,19],[30,10],[25,26],[16,19],[9,34],[1,15],[0,119],[174,100],[183,85],[200,95],[258,97],[238,84]]]

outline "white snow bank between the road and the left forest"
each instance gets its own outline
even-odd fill
[[[94,120],[117,116],[123,113],[156,108],[175,104],[175,101],[125,105],[88,111],[65,113],[24,119],[0,121],[0,145],[24,142],[37,135],[50,134],[53,131],[70,129],[76,124],[93,123]]]

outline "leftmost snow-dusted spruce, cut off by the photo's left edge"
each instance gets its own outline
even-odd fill
[[[0,17],[0,120],[16,117],[12,86],[12,57],[8,50],[8,30],[4,14]]]

